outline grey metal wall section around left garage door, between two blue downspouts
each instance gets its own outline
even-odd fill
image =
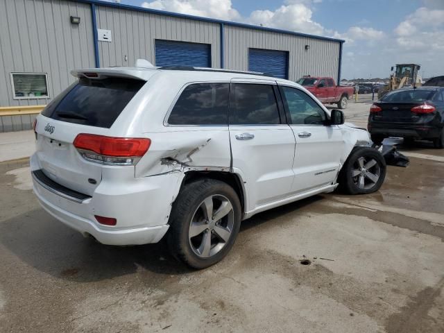
[[[211,66],[221,65],[219,24],[107,6],[96,6],[96,15],[97,28],[112,33],[112,42],[99,42],[101,67],[154,64],[156,39],[211,44]]]

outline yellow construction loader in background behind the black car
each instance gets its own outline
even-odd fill
[[[421,78],[418,75],[420,65],[416,64],[398,64],[391,67],[390,81],[387,87],[379,89],[377,93],[378,99],[395,89],[402,87],[419,87],[421,85]]]

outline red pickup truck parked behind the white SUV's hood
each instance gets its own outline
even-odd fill
[[[336,103],[338,108],[347,108],[348,99],[355,93],[354,87],[336,85],[333,78],[321,76],[303,76],[296,81],[314,94],[324,104]]]

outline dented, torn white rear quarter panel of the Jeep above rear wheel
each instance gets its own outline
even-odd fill
[[[196,74],[198,75],[198,74]],[[217,80],[219,82],[219,80]],[[150,81],[151,99],[144,117],[139,119],[144,137],[151,139],[148,152],[136,167],[136,177],[149,177],[188,168],[230,168],[228,125],[169,126],[166,119],[182,90],[191,83],[189,74],[164,71]],[[169,89],[164,89],[169,87]]]

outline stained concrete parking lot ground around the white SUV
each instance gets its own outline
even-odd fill
[[[203,271],[85,239],[40,208],[26,159],[0,162],[0,332],[444,332],[444,151],[399,150],[377,193],[257,214]]]

